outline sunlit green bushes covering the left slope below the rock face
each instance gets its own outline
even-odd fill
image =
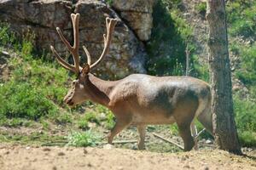
[[[68,79],[66,71],[43,59],[34,58],[32,42],[28,37],[20,45],[14,34],[8,31],[9,27],[1,26],[6,32],[1,32],[0,44],[9,46],[9,43],[15,42],[12,45],[19,47],[15,53],[20,57],[9,60],[13,69],[9,82],[3,83],[0,88],[0,117],[38,120],[41,116],[55,116],[59,113],[56,104],[61,105],[66,91],[61,88]]]

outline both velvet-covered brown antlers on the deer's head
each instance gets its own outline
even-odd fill
[[[67,49],[70,51],[70,53],[73,55],[74,65],[68,64],[64,59],[61,58],[61,56],[56,52],[55,48],[53,46],[50,46],[50,49],[55,54],[56,59],[58,62],[67,70],[73,71],[76,74],[79,74],[79,71],[82,70],[82,68],[79,66],[79,14],[71,14],[71,19],[73,23],[73,35],[74,35],[74,43],[73,47],[70,45],[69,42],[67,42],[67,39],[63,36],[61,30],[59,27],[56,28],[59,36],[61,37],[61,41],[66,45]],[[113,35],[113,29],[116,25],[117,20],[116,19],[110,19],[106,18],[106,26],[107,26],[107,36],[104,34],[104,48],[102,51],[102,55],[99,59],[96,60],[94,64],[91,65],[91,57],[88,49],[83,46],[84,52],[87,56],[87,64],[90,65],[90,69],[98,65],[103,57],[108,54],[108,50],[110,47],[110,42]]]

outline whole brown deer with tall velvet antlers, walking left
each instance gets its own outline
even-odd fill
[[[73,23],[73,46],[56,31],[73,55],[73,65],[62,59],[53,46],[50,49],[57,61],[76,74],[72,88],[64,102],[73,107],[86,100],[106,106],[115,116],[115,125],[108,134],[108,144],[125,127],[137,126],[138,149],[145,149],[146,127],[149,124],[177,123],[183,139],[184,150],[193,149],[195,144],[190,132],[191,122],[197,118],[212,133],[211,88],[207,82],[195,77],[154,77],[146,74],[131,74],[116,81],[105,81],[90,71],[108,54],[117,19],[106,18],[107,34],[103,34],[104,48],[99,59],[91,64],[88,49],[83,46],[87,62],[79,65],[79,14],[71,14]]]

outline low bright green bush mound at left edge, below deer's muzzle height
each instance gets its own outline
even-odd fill
[[[57,112],[57,107],[29,83],[7,82],[0,88],[0,116],[38,120]]]

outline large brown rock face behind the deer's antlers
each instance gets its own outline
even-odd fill
[[[76,2],[76,3],[73,3]],[[0,21],[9,23],[20,37],[33,32],[38,50],[49,51],[49,45],[65,56],[67,49],[58,37],[55,27],[60,27],[69,42],[73,42],[73,26],[70,14],[79,13],[80,55],[84,59],[82,45],[85,45],[95,61],[103,49],[107,16],[119,20],[113,33],[109,54],[93,70],[98,76],[107,79],[125,77],[132,72],[146,72],[144,63],[147,57],[143,43],[119,19],[108,5],[99,1],[79,0],[2,0],[0,1]]]

